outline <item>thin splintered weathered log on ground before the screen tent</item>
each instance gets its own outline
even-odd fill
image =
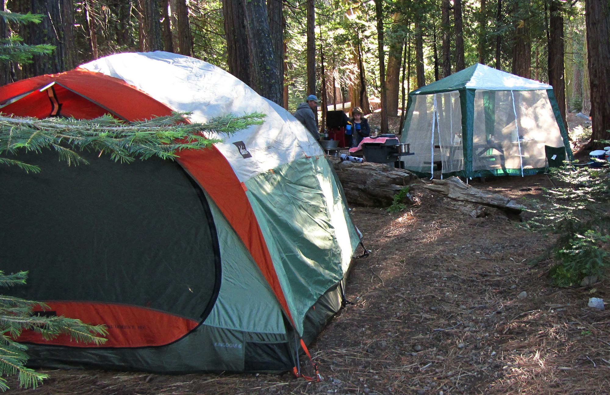
[[[449,177],[445,180],[432,180],[432,184],[425,185],[424,188],[446,194],[448,198],[456,201],[483,204],[514,213],[520,213],[525,208],[501,194],[484,192],[466,185],[458,177]]]

